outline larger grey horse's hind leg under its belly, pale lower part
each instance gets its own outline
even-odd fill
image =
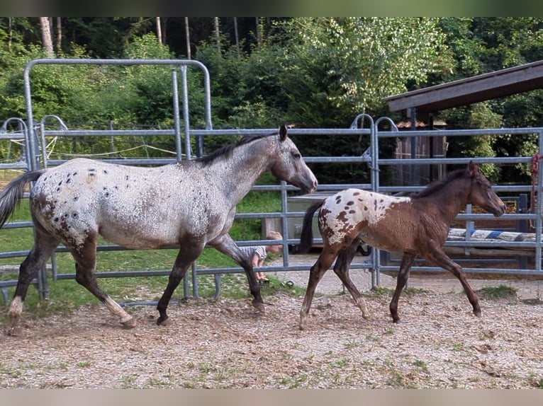
[[[98,286],[96,281],[96,234],[89,234],[82,245],[77,247],[66,244],[75,260],[75,280],[84,286],[91,294],[94,294],[108,310],[118,316],[124,327],[135,326],[135,319],[126,313],[116,301],[113,300]]]

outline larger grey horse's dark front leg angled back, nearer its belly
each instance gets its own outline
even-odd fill
[[[157,311],[159,313],[157,325],[167,325],[168,315],[166,309],[174,294],[174,290],[179,286],[181,279],[185,276],[186,269],[189,269],[191,263],[196,261],[203,250],[203,245],[196,245],[189,242],[182,242],[180,244],[181,250],[177,254],[172,272],[169,273],[168,284],[157,304]]]

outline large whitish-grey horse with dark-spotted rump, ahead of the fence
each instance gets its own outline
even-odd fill
[[[313,192],[315,175],[296,145],[279,134],[243,137],[203,158],[157,168],[113,165],[74,159],[56,168],[24,173],[0,195],[0,226],[20,201],[25,185],[35,226],[32,250],[21,264],[9,308],[9,333],[16,332],[28,286],[59,243],[76,262],[76,280],[99,298],[125,327],[135,320],[96,282],[96,238],[101,235],[127,248],[159,248],[179,244],[169,282],[157,306],[158,324],[186,269],[206,245],[240,264],[254,297],[252,305],[264,311],[250,260],[228,234],[235,207],[264,172]]]

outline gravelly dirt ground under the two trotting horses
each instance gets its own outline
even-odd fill
[[[311,259],[313,260],[313,259]],[[305,286],[308,272],[277,272]],[[155,324],[151,306],[128,308],[124,330],[103,306],[40,320],[23,317],[19,337],[0,335],[1,388],[542,388],[543,306],[539,281],[507,284],[476,318],[457,279],[414,275],[388,313],[389,292],[371,293],[369,272],[353,270],[371,313],[364,320],[332,271],[318,287],[306,330],[301,297],[199,299],[172,304],[172,323]],[[381,274],[381,286],[395,280]],[[24,313],[23,313],[24,315]]]

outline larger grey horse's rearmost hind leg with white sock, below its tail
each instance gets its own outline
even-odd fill
[[[19,319],[23,312],[23,302],[26,298],[28,286],[30,286],[38,271],[45,265],[45,262],[47,262],[58,245],[58,241],[55,238],[45,233],[45,231],[40,231],[38,226],[36,227],[34,246],[30,250],[30,253],[28,253],[26,260],[19,267],[17,287],[13,295],[13,301],[11,301],[11,306],[9,306],[9,327],[7,329],[9,335],[18,334]]]

